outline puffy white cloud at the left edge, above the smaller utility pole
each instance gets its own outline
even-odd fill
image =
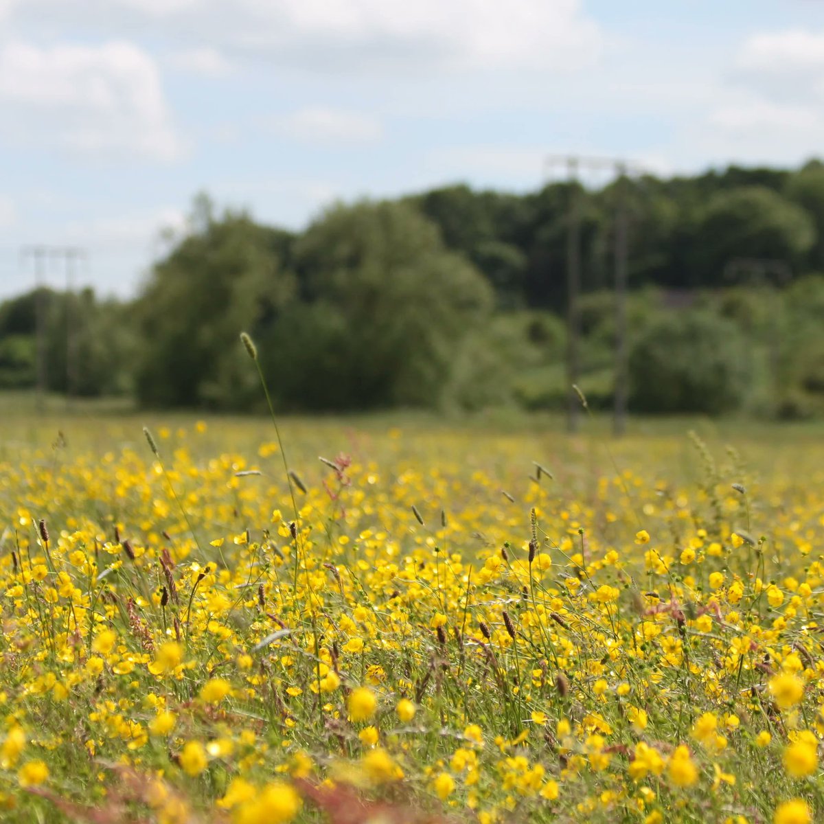
[[[160,73],[124,41],[0,48],[0,104],[7,137],[94,155],[171,161],[184,146],[171,123]]]

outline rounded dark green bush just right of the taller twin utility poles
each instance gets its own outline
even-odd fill
[[[630,405],[635,412],[720,414],[742,405],[750,377],[737,325],[709,312],[670,313],[630,351]]]

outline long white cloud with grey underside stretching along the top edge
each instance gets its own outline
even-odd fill
[[[0,0],[3,2],[3,0]],[[8,0],[7,0],[8,2]],[[581,0],[17,0],[12,18],[142,26],[312,70],[555,68],[600,54]]]

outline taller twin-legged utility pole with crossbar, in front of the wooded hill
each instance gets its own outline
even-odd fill
[[[627,405],[627,329],[626,291],[627,260],[629,257],[629,210],[626,203],[628,176],[642,170],[620,159],[609,157],[580,157],[578,155],[550,155],[545,167],[563,165],[569,180],[569,205],[567,207],[567,388],[569,405],[567,429],[570,433],[578,430],[581,401],[572,388],[578,384],[580,370],[578,346],[581,336],[580,309],[578,299],[581,289],[581,249],[580,249],[580,192],[578,174],[586,171],[611,171],[617,180],[617,204],[615,214],[614,247],[615,288],[616,288],[616,359],[613,430],[616,435],[626,428]]]

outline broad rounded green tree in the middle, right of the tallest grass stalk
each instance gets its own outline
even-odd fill
[[[329,407],[437,404],[456,345],[493,305],[489,283],[411,204],[330,208],[297,242],[295,264],[335,344],[335,358],[321,358],[341,370]],[[307,376],[318,355],[302,362]]]

